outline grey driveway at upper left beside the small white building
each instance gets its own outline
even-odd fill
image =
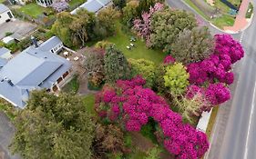
[[[14,33],[11,35],[17,40],[21,40],[27,34],[33,32],[36,29],[36,25],[31,23],[15,19],[14,21],[0,25],[0,39],[5,37],[6,32]]]

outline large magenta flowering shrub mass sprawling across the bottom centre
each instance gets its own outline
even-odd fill
[[[103,89],[97,94],[97,114],[124,124],[128,131],[137,132],[148,123],[148,117],[152,117],[159,123],[163,144],[169,153],[182,159],[200,158],[209,148],[206,134],[183,124],[181,115],[172,112],[161,96],[143,88],[145,83],[143,78],[137,76],[132,80],[119,80],[115,89]]]

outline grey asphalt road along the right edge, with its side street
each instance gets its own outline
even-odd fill
[[[168,0],[172,7],[196,14],[181,0]],[[255,5],[255,4],[254,4]],[[256,12],[254,10],[254,15]],[[206,22],[207,23],[207,22]],[[221,32],[212,27],[214,34]],[[256,159],[256,18],[251,26],[233,37],[243,45],[245,57],[233,67],[232,98],[220,105],[206,159]]]

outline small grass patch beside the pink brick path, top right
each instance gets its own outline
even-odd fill
[[[222,15],[218,18],[215,18],[211,21],[213,25],[216,25],[223,29],[223,26],[232,26],[234,25],[235,19],[231,15]]]

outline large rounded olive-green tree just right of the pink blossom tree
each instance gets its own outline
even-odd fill
[[[164,49],[170,53],[171,44],[176,41],[179,33],[184,29],[191,30],[196,26],[194,15],[185,11],[166,8],[156,12],[151,18],[150,41],[153,47]]]

